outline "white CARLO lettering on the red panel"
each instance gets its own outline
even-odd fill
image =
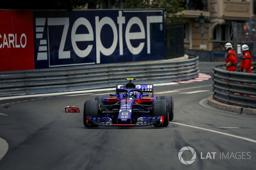
[[[25,40],[24,44],[22,44],[23,39]],[[15,43],[15,45],[14,45],[14,43]],[[20,43],[20,44],[18,44],[18,43]],[[4,46],[7,46],[7,48],[20,48],[20,46],[22,48],[25,48],[26,45],[27,45],[27,36],[26,36],[25,33],[21,34],[19,40],[17,39],[17,34],[15,34],[15,36],[14,36],[13,33],[9,33],[8,34],[8,39],[7,39],[6,34],[4,34],[4,37],[2,37],[2,35],[0,34],[0,48],[4,48]]]

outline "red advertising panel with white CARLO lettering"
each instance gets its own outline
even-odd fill
[[[0,71],[34,69],[33,12],[0,10]]]

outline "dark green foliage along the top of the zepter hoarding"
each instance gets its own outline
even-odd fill
[[[72,9],[164,9],[166,24],[184,22],[184,0],[44,0],[6,1],[0,9],[68,10]]]

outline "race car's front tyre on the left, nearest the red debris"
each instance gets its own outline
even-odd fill
[[[100,102],[98,100],[86,100],[84,103],[84,126],[98,127],[98,125],[88,125],[86,123],[87,116],[99,117]]]

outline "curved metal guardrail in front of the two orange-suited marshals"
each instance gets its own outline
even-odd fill
[[[252,63],[255,68],[256,63]],[[256,108],[256,70],[243,73],[223,70],[223,66],[213,68],[213,98],[222,102]],[[243,84],[241,84],[242,82]],[[239,95],[244,94],[244,95]],[[250,96],[251,95],[251,96]]]

